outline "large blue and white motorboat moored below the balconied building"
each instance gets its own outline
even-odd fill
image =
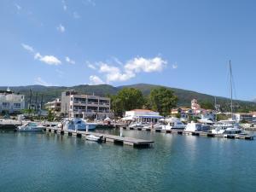
[[[58,125],[59,127],[61,126],[62,129],[64,130],[76,130],[76,131],[92,131],[96,129],[96,123],[89,123],[84,119],[79,119],[79,118],[73,118],[73,119],[64,119],[61,122],[61,125]]]

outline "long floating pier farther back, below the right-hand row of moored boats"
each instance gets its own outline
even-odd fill
[[[253,140],[253,136],[244,135],[244,134],[214,134],[210,131],[182,131],[182,130],[160,130],[160,129],[151,129],[151,128],[142,128],[142,127],[123,127],[125,130],[137,130],[137,131],[154,131],[154,132],[164,132],[164,133],[175,133],[179,135],[192,135],[192,136],[201,136],[201,137],[223,137],[229,139],[245,139],[245,140]]]

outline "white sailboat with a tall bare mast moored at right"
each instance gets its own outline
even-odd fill
[[[213,125],[214,129],[212,133],[214,134],[241,134],[242,129],[239,124],[236,123],[236,119],[233,118],[233,79],[232,79],[232,67],[230,61],[230,109],[231,109],[231,119],[220,120]]]

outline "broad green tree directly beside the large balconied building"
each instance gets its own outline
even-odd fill
[[[134,88],[124,88],[119,90],[117,96],[111,96],[111,106],[117,116],[131,109],[142,108],[144,102],[142,91]]]

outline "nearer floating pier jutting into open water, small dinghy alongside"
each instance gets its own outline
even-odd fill
[[[46,127],[45,131],[48,132],[54,132],[57,134],[67,134],[68,136],[73,137],[85,137],[86,135],[94,135],[96,137],[103,137],[104,142],[111,142],[116,143],[120,145],[130,145],[134,148],[149,148],[154,143],[153,141],[143,140],[143,139],[137,139],[137,138],[131,138],[131,137],[119,137],[99,132],[91,132],[91,131],[75,131],[75,130],[61,130],[61,128],[55,128],[55,127]]]

